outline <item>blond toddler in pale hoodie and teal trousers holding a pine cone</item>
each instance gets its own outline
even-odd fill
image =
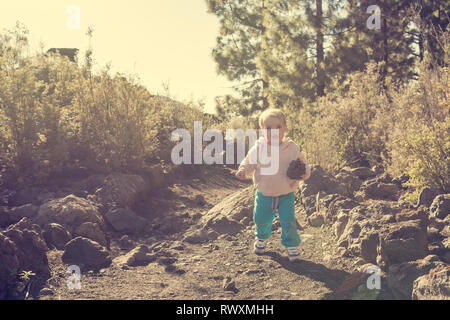
[[[236,173],[236,177],[240,180],[253,174],[253,182],[257,187],[253,212],[256,225],[254,252],[264,252],[266,241],[272,232],[272,222],[278,210],[282,230],[281,244],[286,247],[289,260],[297,260],[300,256],[297,246],[301,240],[297,233],[297,221],[294,215],[294,191],[301,180],[309,178],[311,169],[299,146],[291,139],[285,138],[287,124],[286,116],[282,111],[267,109],[259,117],[259,126],[263,130],[264,137],[261,137],[249,150]],[[274,132],[273,129],[278,130]],[[266,158],[269,158],[272,163],[277,160],[270,157],[269,153],[270,150],[274,150],[273,148],[277,148],[278,151],[276,154],[278,170],[274,174],[264,174],[261,169],[267,167],[268,162],[262,163],[260,155],[257,156],[257,161],[251,159],[255,159],[255,153],[258,154],[259,150],[269,150],[266,152]],[[291,161],[297,159],[305,163],[306,173],[300,177],[300,180],[293,180],[286,175],[286,172]]]

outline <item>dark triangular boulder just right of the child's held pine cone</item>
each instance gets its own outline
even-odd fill
[[[311,176],[308,180],[300,183],[300,190],[303,197],[316,195],[323,191],[327,194],[347,195],[347,190],[333,176],[325,172],[319,165],[311,167]]]

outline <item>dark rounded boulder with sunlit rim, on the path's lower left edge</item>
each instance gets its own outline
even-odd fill
[[[81,270],[99,270],[108,267],[112,260],[108,251],[95,241],[76,237],[66,244],[62,261],[77,265]]]

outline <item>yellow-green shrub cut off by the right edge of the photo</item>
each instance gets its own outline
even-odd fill
[[[394,96],[388,169],[408,184],[450,192],[450,78],[448,67],[420,67],[417,83]]]

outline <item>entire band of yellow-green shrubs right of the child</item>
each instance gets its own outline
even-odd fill
[[[362,159],[393,176],[408,174],[407,200],[425,186],[450,192],[449,68],[425,59],[416,82],[385,79],[387,89],[378,69],[371,63],[317,102],[286,108],[291,135],[310,162],[328,170]]]

